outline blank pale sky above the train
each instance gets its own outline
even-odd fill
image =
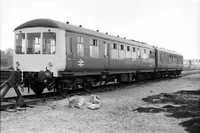
[[[174,50],[200,59],[200,0],[0,0],[0,46],[14,28],[50,18]]]

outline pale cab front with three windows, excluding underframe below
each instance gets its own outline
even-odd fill
[[[15,31],[15,69],[29,72],[49,70],[57,76],[57,71],[65,66],[64,50],[56,28],[34,27]]]

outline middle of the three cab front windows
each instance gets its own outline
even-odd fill
[[[40,33],[27,33],[27,54],[41,53],[41,35]]]

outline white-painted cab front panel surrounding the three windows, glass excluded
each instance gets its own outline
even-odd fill
[[[15,31],[15,34],[24,33],[26,35],[26,48],[27,46],[27,34],[28,33],[41,33],[41,40],[43,39],[42,33],[46,33],[48,31],[56,33],[56,46],[55,46],[55,54],[43,54],[43,48],[41,48],[40,54],[27,54],[27,51],[23,54],[14,53],[13,64],[14,69],[16,69],[16,62],[19,62],[19,69],[21,71],[45,71],[46,68],[50,69],[54,72],[54,76],[58,75],[58,71],[63,71],[66,66],[66,55],[65,55],[65,32],[60,29],[54,28],[26,28]],[[15,36],[16,40],[16,36]],[[39,41],[38,41],[39,42]],[[34,42],[35,43],[35,42]],[[43,41],[40,41],[43,43]],[[43,47],[43,44],[41,44]],[[16,41],[15,41],[15,49],[16,49]],[[52,64],[50,67],[49,64]]]

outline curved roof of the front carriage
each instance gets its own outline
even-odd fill
[[[56,21],[56,20],[52,20],[52,19],[30,20],[30,21],[25,22],[25,23],[19,25],[18,27],[16,27],[14,29],[14,31],[19,30],[19,29],[23,29],[23,28],[33,28],[33,27],[59,28],[59,29],[63,29],[63,30],[66,30],[66,31],[87,34],[87,35],[91,35],[91,36],[105,38],[105,39],[108,39],[108,40],[118,41],[118,42],[121,42],[121,43],[127,43],[127,44],[131,44],[131,45],[136,45],[136,46],[146,47],[146,48],[151,48],[151,49],[153,48],[152,46],[150,46],[146,43],[143,43],[143,42],[108,35],[108,34],[105,34],[105,33],[86,29],[86,28],[83,28],[83,27],[74,26],[74,25],[71,25],[71,24],[68,24],[68,23],[63,23],[63,22],[59,22],[59,21]]]

